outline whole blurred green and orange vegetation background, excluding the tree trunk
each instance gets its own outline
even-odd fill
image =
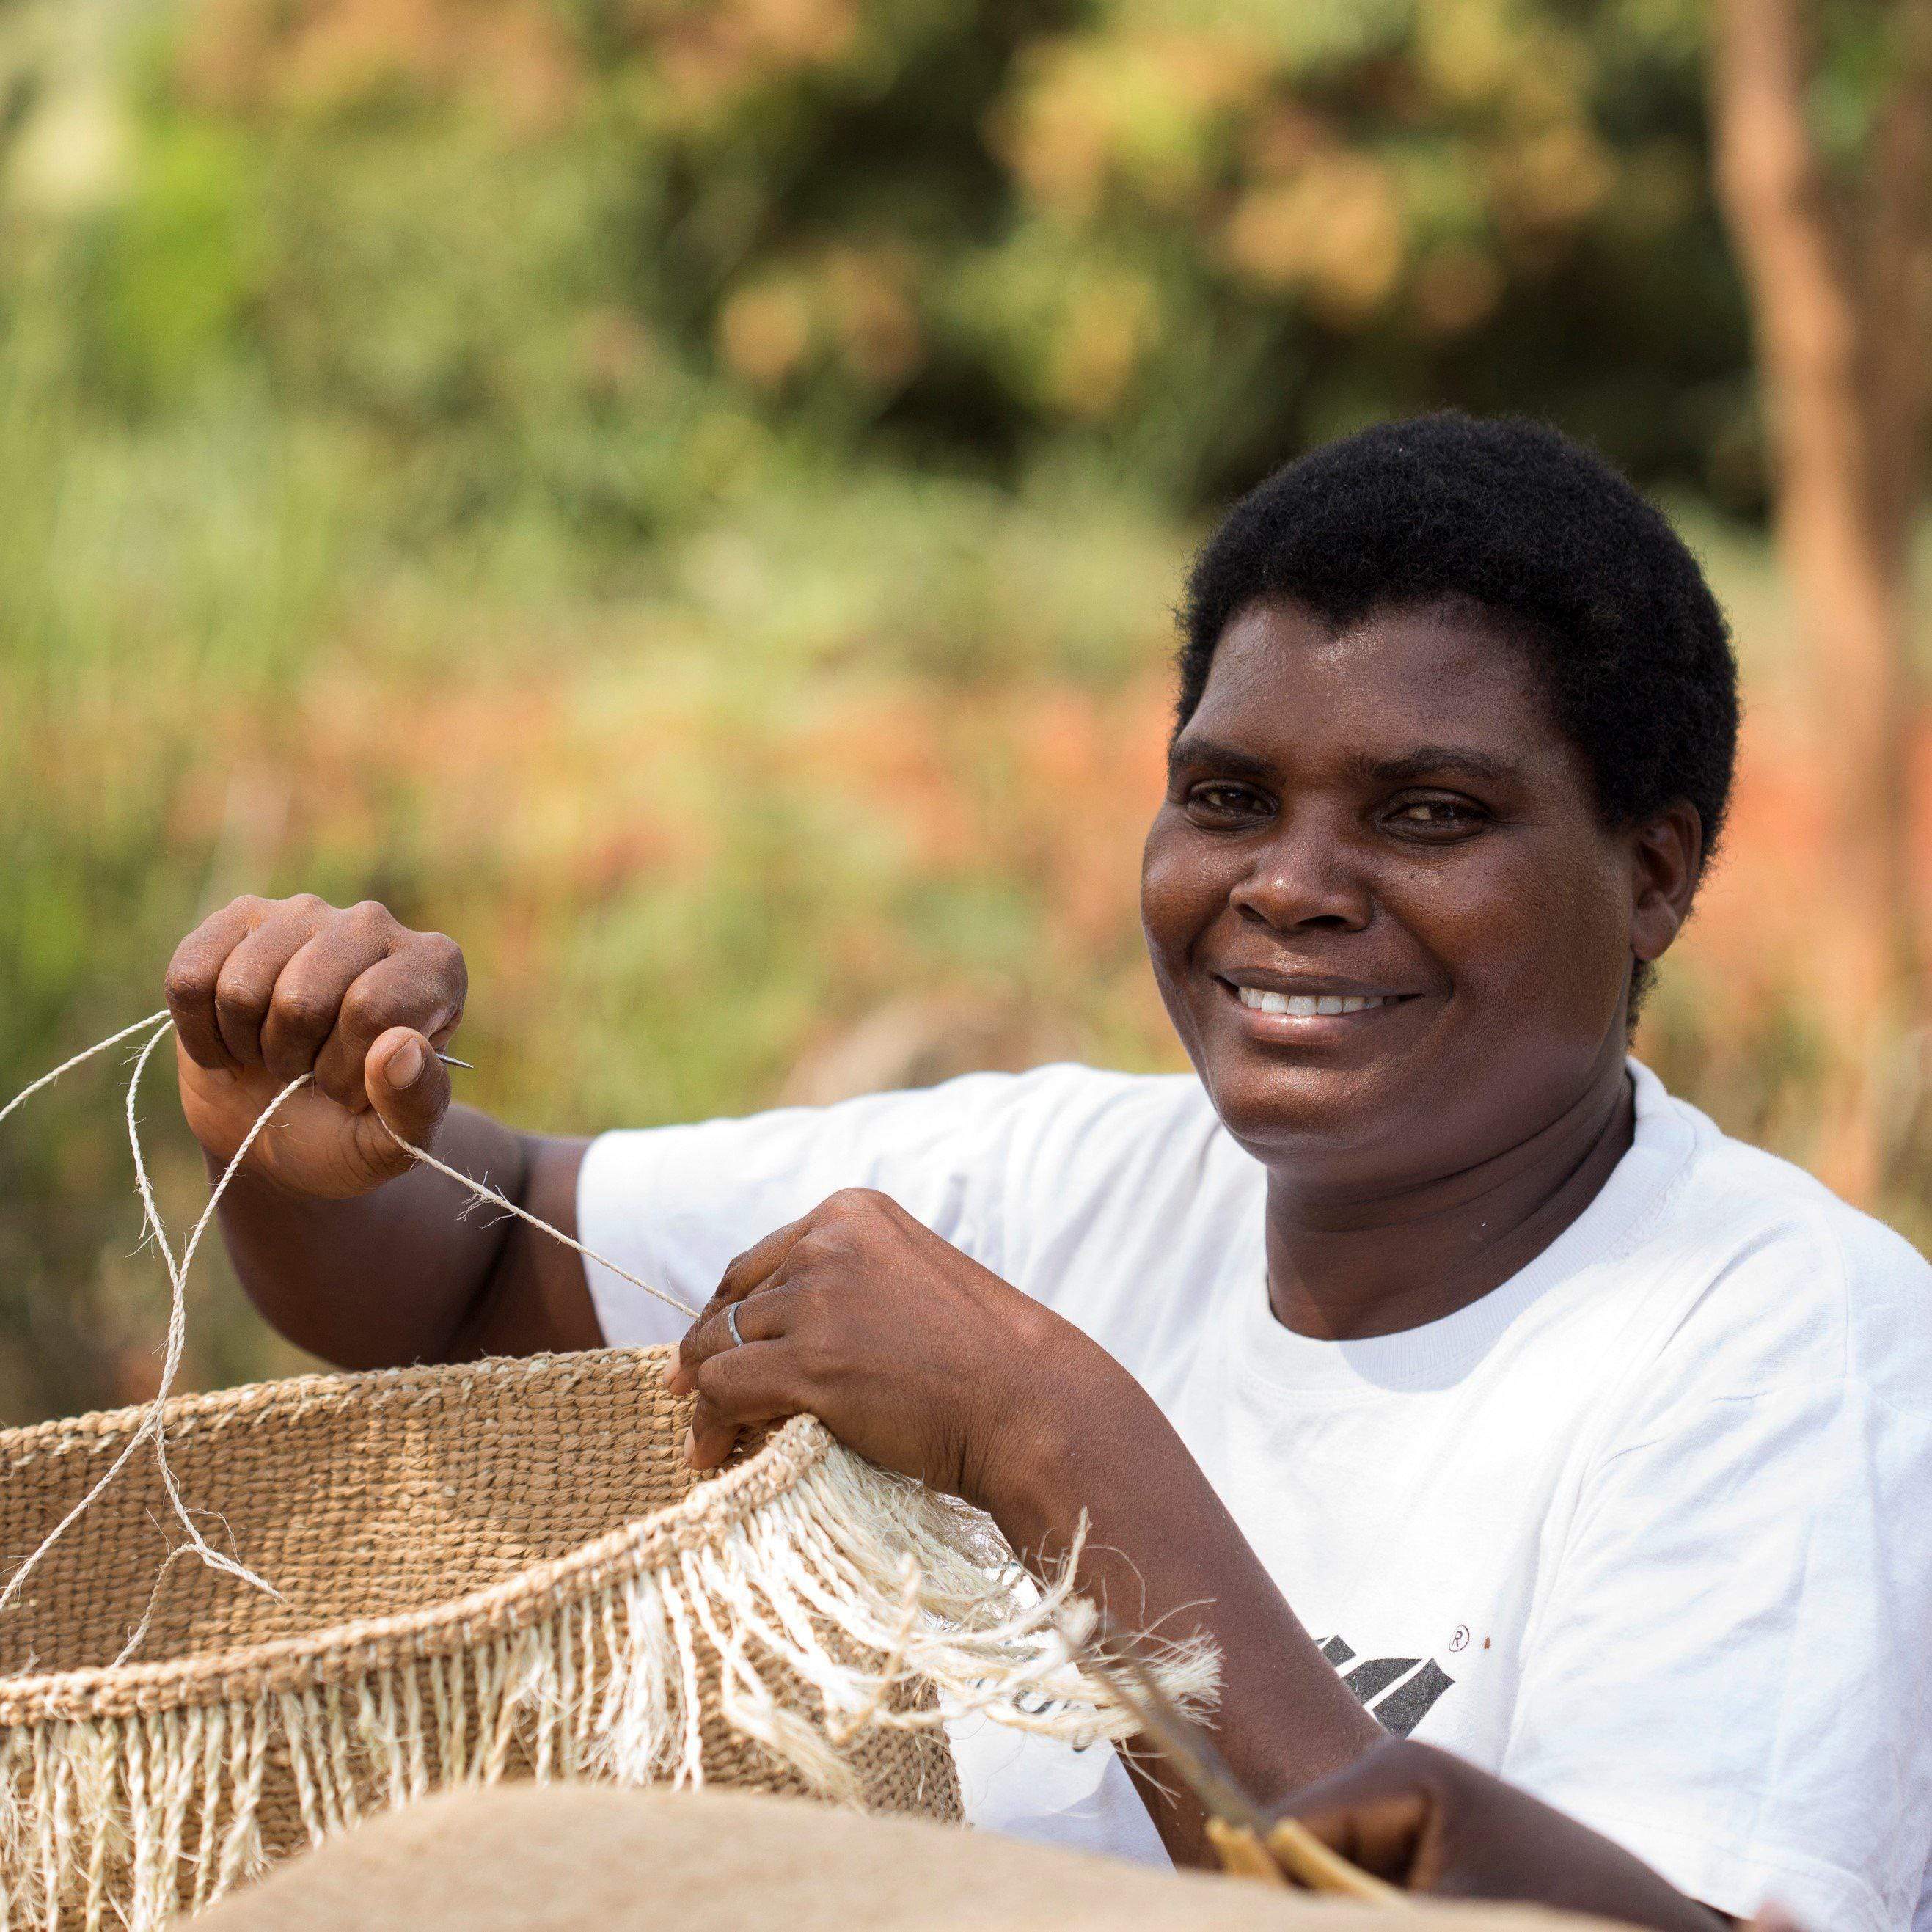
[[[466,943],[466,1097],[529,1124],[1173,1065],[1134,867],[1188,545],[1426,404],[1675,493],[1776,701],[1700,37],[1696,0],[0,0],[0,1095],[296,889]],[[1648,1049],[1803,1155],[1814,1045],[1727,918]],[[35,1109],[12,1416],[143,1393],[160,1331],[112,1068]],[[145,1119],[185,1225],[164,1066]],[[218,1258],[193,1293],[193,1381],[290,1360]]]

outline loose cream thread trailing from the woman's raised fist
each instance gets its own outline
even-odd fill
[[[14,1575],[8,1578],[6,1588],[0,1590],[0,1611],[8,1609],[8,1605],[14,1604],[14,1600],[21,1592],[21,1586],[41,1565],[43,1557],[46,1557],[46,1553],[62,1540],[62,1536],[66,1536],[68,1530],[95,1505],[100,1493],[128,1466],[135,1451],[145,1441],[155,1443],[155,1459],[160,1470],[162,1488],[166,1490],[168,1503],[174,1509],[174,1515],[180,1519],[182,1528],[187,1532],[187,1542],[176,1546],[176,1549],[170,1551],[162,1567],[162,1577],[166,1575],[166,1567],[172,1563],[174,1555],[178,1555],[182,1549],[191,1548],[195,1555],[199,1555],[201,1561],[207,1563],[211,1569],[226,1571],[230,1577],[236,1577],[238,1580],[251,1584],[253,1588],[263,1590],[269,1596],[274,1598],[280,1596],[274,1584],[270,1584],[263,1577],[257,1577],[255,1571],[251,1571],[245,1563],[240,1563],[238,1559],[224,1555],[220,1549],[209,1544],[207,1538],[201,1534],[193,1515],[187,1509],[187,1501],[182,1495],[180,1484],[176,1482],[174,1468],[168,1464],[164,1408],[168,1403],[168,1395],[174,1389],[176,1372],[182,1366],[182,1350],[187,1343],[187,1269],[195,1260],[195,1250],[201,1246],[201,1236],[207,1233],[209,1223],[214,1219],[214,1209],[220,1206],[222,1194],[228,1192],[228,1182],[234,1180],[243,1159],[247,1159],[247,1151],[249,1148],[255,1146],[255,1140],[261,1134],[261,1130],[269,1124],[270,1119],[274,1119],[274,1115],[280,1111],[282,1103],[290,1099],[290,1095],[294,1095],[296,1092],[299,1092],[301,1088],[309,1086],[315,1080],[315,1074],[307,1072],[290,1080],[288,1086],[282,1088],[282,1092],[276,1094],[274,1099],[269,1101],[269,1105],[255,1117],[255,1124],[247,1130],[245,1138],[242,1140],[242,1146],[236,1148],[234,1157],[222,1169],[220,1179],[209,1192],[207,1206],[201,1209],[201,1219],[195,1221],[193,1233],[189,1233],[187,1244],[182,1248],[182,1258],[176,1260],[174,1250],[168,1246],[168,1233],[162,1227],[160,1208],[155,1202],[155,1188],[153,1182],[149,1180],[147,1161],[141,1155],[141,1128],[135,1119],[135,1099],[141,1088],[141,1074],[147,1070],[147,1063],[149,1059],[153,1059],[155,1049],[160,1045],[162,1039],[166,1039],[166,1036],[172,1030],[174,1030],[174,1018],[168,1014],[166,1009],[162,1009],[160,1012],[151,1012],[145,1020],[135,1020],[133,1026],[124,1026],[112,1037],[99,1041],[99,1045],[87,1047],[85,1053],[75,1053],[73,1059],[62,1061],[60,1066],[56,1066],[52,1072],[43,1074],[31,1086],[21,1088],[21,1092],[15,1094],[14,1099],[10,1099],[4,1107],[0,1107],[0,1121],[4,1121],[10,1113],[14,1113],[15,1107],[21,1105],[21,1101],[31,1099],[43,1088],[52,1086],[62,1074],[71,1072],[85,1061],[91,1061],[97,1053],[106,1053],[110,1047],[120,1045],[124,1039],[131,1039],[135,1034],[143,1032],[149,1034],[147,1041],[141,1047],[141,1053],[133,1063],[133,1074],[128,1080],[128,1146],[133,1153],[133,1179],[135,1179],[135,1190],[141,1196],[141,1217],[147,1225],[147,1231],[155,1236],[155,1244],[160,1248],[162,1265],[168,1269],[168,1341],[162,1352],[160,1383],[155,1389],[155,1397],[147,1406],[147,1414],[141,1418],[141,1426],[135,1430],[135,1434],[128,1437],[126,1445],[122,1447],[114,1463],[108,1466],[106,1474],[102,1474],[95,1482],[95,1486],[73,1505],[73,1509],[70,1509],[60,1519],[60,1522],[54,1524],[54,1528],[48,1532],[41,1548],[35,1549],[33,1555],[29,1555],[19,1565],[19,1569],[15,1569]],[[616,1275],[620,1281],[628,1281],[634,1289],[641,1289],[645,1294],[651,1294],[657,1300],[665,1302],[665,1306],[676,1308],[678,1314],[696,1320],[697,1310],[692,1308],[688,1302],[680,1300],[676,1294],[670,1294],[667,1289],[651,1287],[649,1281],[639,1281],[634,1273],[630,1273],[628,1267],[618,1267],[618,1264],[609,1260],[607,1256],[597,1254],[593,1248],[585,1248],[582,1240],[572,1240],[562,1229],[551,1227],[549,1221],[545,1221],[541,1215],[533,1215],[527,1208],[518,1208],[516,1202],[512,1202],[504,1194],[498,1194],[497,1188],[489,1186],[487,1182],[471,1179],[469,1175],[450,1167],[446,1161],[439,1161],[433,1153],[427,1153],[413,1142],[404,1140],[402,1134],[398,1134],[386,1121],[383,1121],[383,1132],[386,1132],[388,1138],[394,1140],[396,1146],[402,1148],[402,1151],[408,1153],[412,1161],[419,1161],[423,1167],[433,1167],[439,1175],[446,1175],[458,1186],[468,1188],[477,1200],[491,1202],[497,1208],[502,1208],[506,1213],[514,1213],[520,1221],[527,1221],[539,1233],[549,1235],[551,1240],[562,1242],[566,1248],[576,1250],[585,1260],[595,1262],[599,1267],[611,1269],[611,1273]],[[156,1582],[156,1594],[158,1588],[160,1586]],[[133,1646],[139,1644],[139,1640],[147,1634],[147,1625],[153,1613],[155,1613],[155,1604],[149,1602],[149,1611],[141,1619],[141,1627],[129,1638],[128,1648],[122,1652],[122,1656],[128,1656],[133,1650]]]

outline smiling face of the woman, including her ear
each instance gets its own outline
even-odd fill
[[[1376,1192],[1501,1153],[1617,1076],[1631,958],[1669,945],[1694,840],[1694,813],[1600,823],[1528,655],[1478,618],[1337,634],[1252,605],[1175,742],[1142,923],[1235,1138]]]

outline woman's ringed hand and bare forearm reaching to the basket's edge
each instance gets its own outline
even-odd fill
[[[985,1509],[1041,1575],[1086,1515],[1078,1588],[1130,1629],[1215,1644],[1217,1741],[1264,1803],[1383,1735],[1134,1378],[887,1196],[835,1194],[732,1262],[676,1379],[699,1395],[699,1466],[723,1463],[744,1424],[810,1410],[862,1455]],[[1167,1849],[1202,1861],[1198,1808],[1173,1777],[1161,1787],[1140,1779]]]

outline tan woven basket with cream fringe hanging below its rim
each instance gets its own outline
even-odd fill
[[[668,1352],[170,1403],[203,1534],[280,1594],[170,1553],[147,1455],[44,1555],[0,1613],[0,1926],[149,1932],[361,1816],[504,1777],[949,1820],[937,1692],[1122,1727],[1078,1704],[983,1519],[817,1422],[694,1480]],[[0,1551],[39,1546],[141,1414],[0,1434]]]

